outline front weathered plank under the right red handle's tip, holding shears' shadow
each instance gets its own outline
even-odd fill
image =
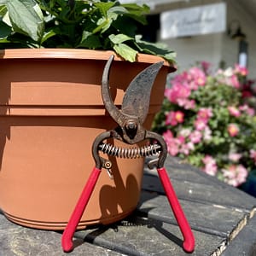
[[[155,219],[131,217],[102,229],[79,231],[75,236],[125,255],[188,255],[183,252],[177,226]],[[218,247],[224,247],[225,242],[223,237],[198,231],[195,231],[195,240],[195,252],[189,255],[211,255]]]

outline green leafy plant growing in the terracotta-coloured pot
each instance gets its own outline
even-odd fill
[[[148,11],[107,0],[0,0],[0,49],[113,49],[127,61],[141,52],[173,62],[172,50],[137,35]]]

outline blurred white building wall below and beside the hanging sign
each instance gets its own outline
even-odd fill
[[[191,1],[189,6],[191,3],[194,2]],[[208,1],[202,0],[200,4],[207,3]],[[226,0],[226,3],[227,26],[230,25],[231,20],[239,20],[242,32],[247,35],[249,78],[256,79],[256,19],[247,14],[246,10],[242,8],[241,2]],[[183,4],[183,7],[186,6]],[[224,61],[228,67],[234,66],[238,61],[239,43],[231,39],[227,32],[160,41],[168,44],[171,49],[177,52],[177,64],[180,71],[191,67],[196,61],[209,61],[216,68],[220,61]]]

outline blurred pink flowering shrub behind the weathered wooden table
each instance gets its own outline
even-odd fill
[[[246,76],[238,65],[211,74],[207,62],[177,74],[153,126],[169,154],[233,186],[256,166],[256,116],[245,101],[253,96],[245,91]]]

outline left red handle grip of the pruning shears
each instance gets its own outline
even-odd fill
[[[73,210],[71,218],[67,223],[66,229],[62,234],[61,245],[63,251],[66,253],[73,250],[73,234],[77,229],[80,219],[82,218],[84,209],[87,206],[88,201],[90,200],[90,195],[92,194],[92,191],[95,188],[96,181],[101,171],[101,169],[98,169],[96,167],[93,168],[92,172],[90,173],[90,177],[84,186],[83,192],[80,195],[79,201]]]

